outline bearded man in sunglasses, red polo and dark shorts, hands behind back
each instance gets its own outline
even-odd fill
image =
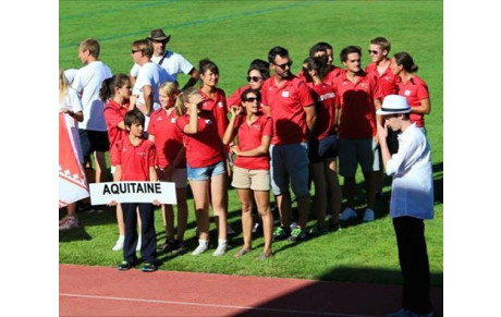
[[[314,100],[306,84],[291,73],[292,61],[283,47],[273,47],[268,53],[273,75],[261,87],[262,103],[273,118],[271,139],[271,186],[280,212],[281,225],[273,239],[286,239],[291,231],[291,197],[289,184],[297,199],[298,225],[290,232],[289,241],[307,239],[309,214],[307,141],[316,121]]]

